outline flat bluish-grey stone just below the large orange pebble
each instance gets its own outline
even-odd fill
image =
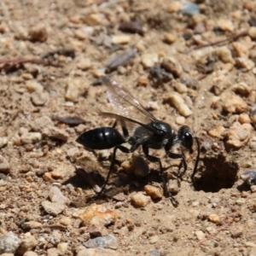
[[[109,248],[116,250],[118,248],[118,242],[113,235],[100,236],[84,242],[84,246],[88,248]]]

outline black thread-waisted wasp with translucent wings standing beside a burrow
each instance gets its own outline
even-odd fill
[[[177,205],[176,199],[167,189],[166,179],[163,172],[160,159],[148,153],[149,148],[160,149],[165,148],[166,154],[172,159],[181,159],[184,172],[187,170],[187,163],[184,154],[175,154],[170,149],[177,143],[184,148],[192,150],[193,138],[197,143],[197,158],[195,161],[194,171],[191,178],[194,177],[199,161],[199,142],[193,136],[188,126],[181,126],[177,133],[172,127],[163,121],[160,121],[149,113],[143,105],[137,101],[125,88],[107,76],[102,76],[102,83],[108,87],[108,99],[115,108],[116,113],[101,113],[104,116],[115,119],[113,127],[100,127],[90,131],[85,131],[76,140],[85,148],[91,149],[107,149],[113,148],[113,156],[108,171],[108,176],[99,194],[105,189],[110,173],[113,171],[115,155],[117,149],[124,153],[134,152],[139,146],[142,146],[143,153],[146,158],[152,162],[158,162],[160,165],[160,177],[164,183],[165,192],[169,194],[172,203]],[[115,125],[121,125],[123,135],[115,129]],[[132,134],[129,135],[128,127],[133,127]],[[129,143],[131,148],[125,148],[122,144]]]

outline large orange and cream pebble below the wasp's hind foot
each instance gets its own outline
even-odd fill
[[[84,226],[93,224],[108,226],[116,221],[117,213],[101,205],[92,204],[85,208],[79,218]]]

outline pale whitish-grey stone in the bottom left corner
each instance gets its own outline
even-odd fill
[[[12,231],[9,231],[0,240],[0,253],[15,253],[20,247],[20,243],[20,238]]]

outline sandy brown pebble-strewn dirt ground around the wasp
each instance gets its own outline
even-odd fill
[[[1,255],[256,255],[256,189],[241,179],[255,166],[255,13],[253,0],[0,1]],[[193,180],[196,143],[184,151],[180,179],[172,175],[180,160],[152,151],[177,207],[168,196],[144,196],[145,185],[163,185],[158,165],[147,160],[150,173],[135,177],[125,172],[131,154],[119,151],[107,196],[90,200],[113,150],[75,141],[113,125],[99,115],[118,108],[102,73],[157,119],[175,131],[188,125],[199,139]],[[92,203],[113,221],[84,224],[80,214]],[[86,243],[106,235],[114,245]]]

